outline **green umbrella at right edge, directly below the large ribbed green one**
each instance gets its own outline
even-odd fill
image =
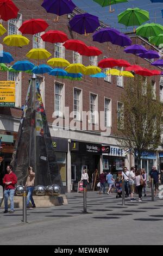
[[[144,38],[149,38],[150,36],[156,36],[163,33],[163,26],[157,23],[146,23],[136,28],[136,35],[141,35]]]

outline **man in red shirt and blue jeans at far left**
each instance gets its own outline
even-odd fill
[[[15,184],[17,183],[17,177],[15,173],[12,172],[12,166],[7,166],[7,174],[4,175],[3,184],[4,187],[4,214],[8,212],[8,199],[10,197],[10,214],[14,213],[14,193]]]

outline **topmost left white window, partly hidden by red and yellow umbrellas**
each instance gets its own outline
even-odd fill
[[[22,15],[18,14],[17,19],[11,19],[8,21],[8,35],[20,35],[18,30],[22,25]]]

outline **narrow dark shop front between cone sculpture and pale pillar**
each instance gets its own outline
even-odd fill
[[[57,164],[60,170],[62,184],[67,186],[67,152],[68,152],[68,141],[67,139],[60,139],[52,137],[53,148],[57,159]]]

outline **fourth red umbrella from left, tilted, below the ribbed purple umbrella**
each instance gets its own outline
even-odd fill
[[[87,51],[87,45],[80,40],[67,40],[64,42],[63,46],[65,46],[67,50],[79,52],[81,55]]]

